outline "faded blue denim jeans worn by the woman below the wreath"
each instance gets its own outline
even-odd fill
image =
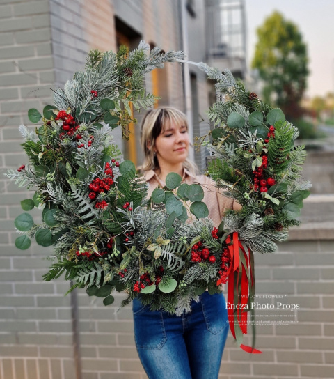
[[[229,330],[225,304],[223,294],[205,291],[189,314],[175,316],[135,299],[134,338],[148,378],[218,378]]]

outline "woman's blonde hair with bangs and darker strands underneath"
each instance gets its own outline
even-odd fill
[[[157,109],[150,109],[146,112],[141,121],[141,146],[144,152],[144,162],[141,166],[142,171],[159,169],[159,162],[154,155],[154,146],[157,137],[164,133],[166,128],[171,124],[186,126],[188,130],[188,122],[186,115],[178,109],[172,107],[159,107]],[[150,141],[150,148],[148,142]],[[198,168],[195,163],[191,162],[188,158],[184,160],[183,167],[189,170],[193,175],[198,173]]]

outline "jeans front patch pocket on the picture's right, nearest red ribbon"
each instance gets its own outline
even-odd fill
[[[207,291],[200,295],[203,316],[207,330],[213,334],[223,333],[228,328],[228,311],[222,293],[209,295]]]

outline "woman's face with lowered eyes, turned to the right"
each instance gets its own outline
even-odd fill
[[[161,164],[179,164],[186,160],[189,152],[189,134],[185,125],[174,121],[155,140],[154,151]]]

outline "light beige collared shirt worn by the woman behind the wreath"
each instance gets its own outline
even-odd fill
[[[145,182],[148,183],[148,197],[151,196],[153,190],[157,187],[164,187],[166,183],[162,181],[157,173],[153,170],[144,171],[143,176],[145,177]],[[184,174],[182,181],[186,184],[200,184],[204,191],[204,198],[202,201],[207,204],[209,209],[209,218],[214,222],[214,226],[218,228],[221,223],[221,219],[224,216],[226,210],[229,209],[239,209],[239,204],[233,199],[225,197],[223,194],[223,189],[218,189],[214,184],[214,181],[205,175],[194,176],[191,172],[184,169]],[[190,202],[189,202],[190,203]],[[188,212],[189,222],[196,219],[194,215]]]

